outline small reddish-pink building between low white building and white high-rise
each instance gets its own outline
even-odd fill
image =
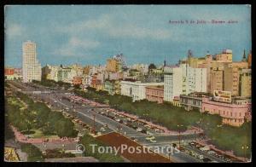
[[[146,86],[146,99],[148,101],[157,101],[158,103],[163,103],[164,86]]]

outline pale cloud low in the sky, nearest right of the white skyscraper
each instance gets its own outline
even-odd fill
[[[82,56],[84,52],[90,49],[95,49],[100,45],[99,42],[89,39],[79,39],[78,37],[71,37],[68,43],[62,45],[60,49],[55,49],[54,55],[62,56]]]

